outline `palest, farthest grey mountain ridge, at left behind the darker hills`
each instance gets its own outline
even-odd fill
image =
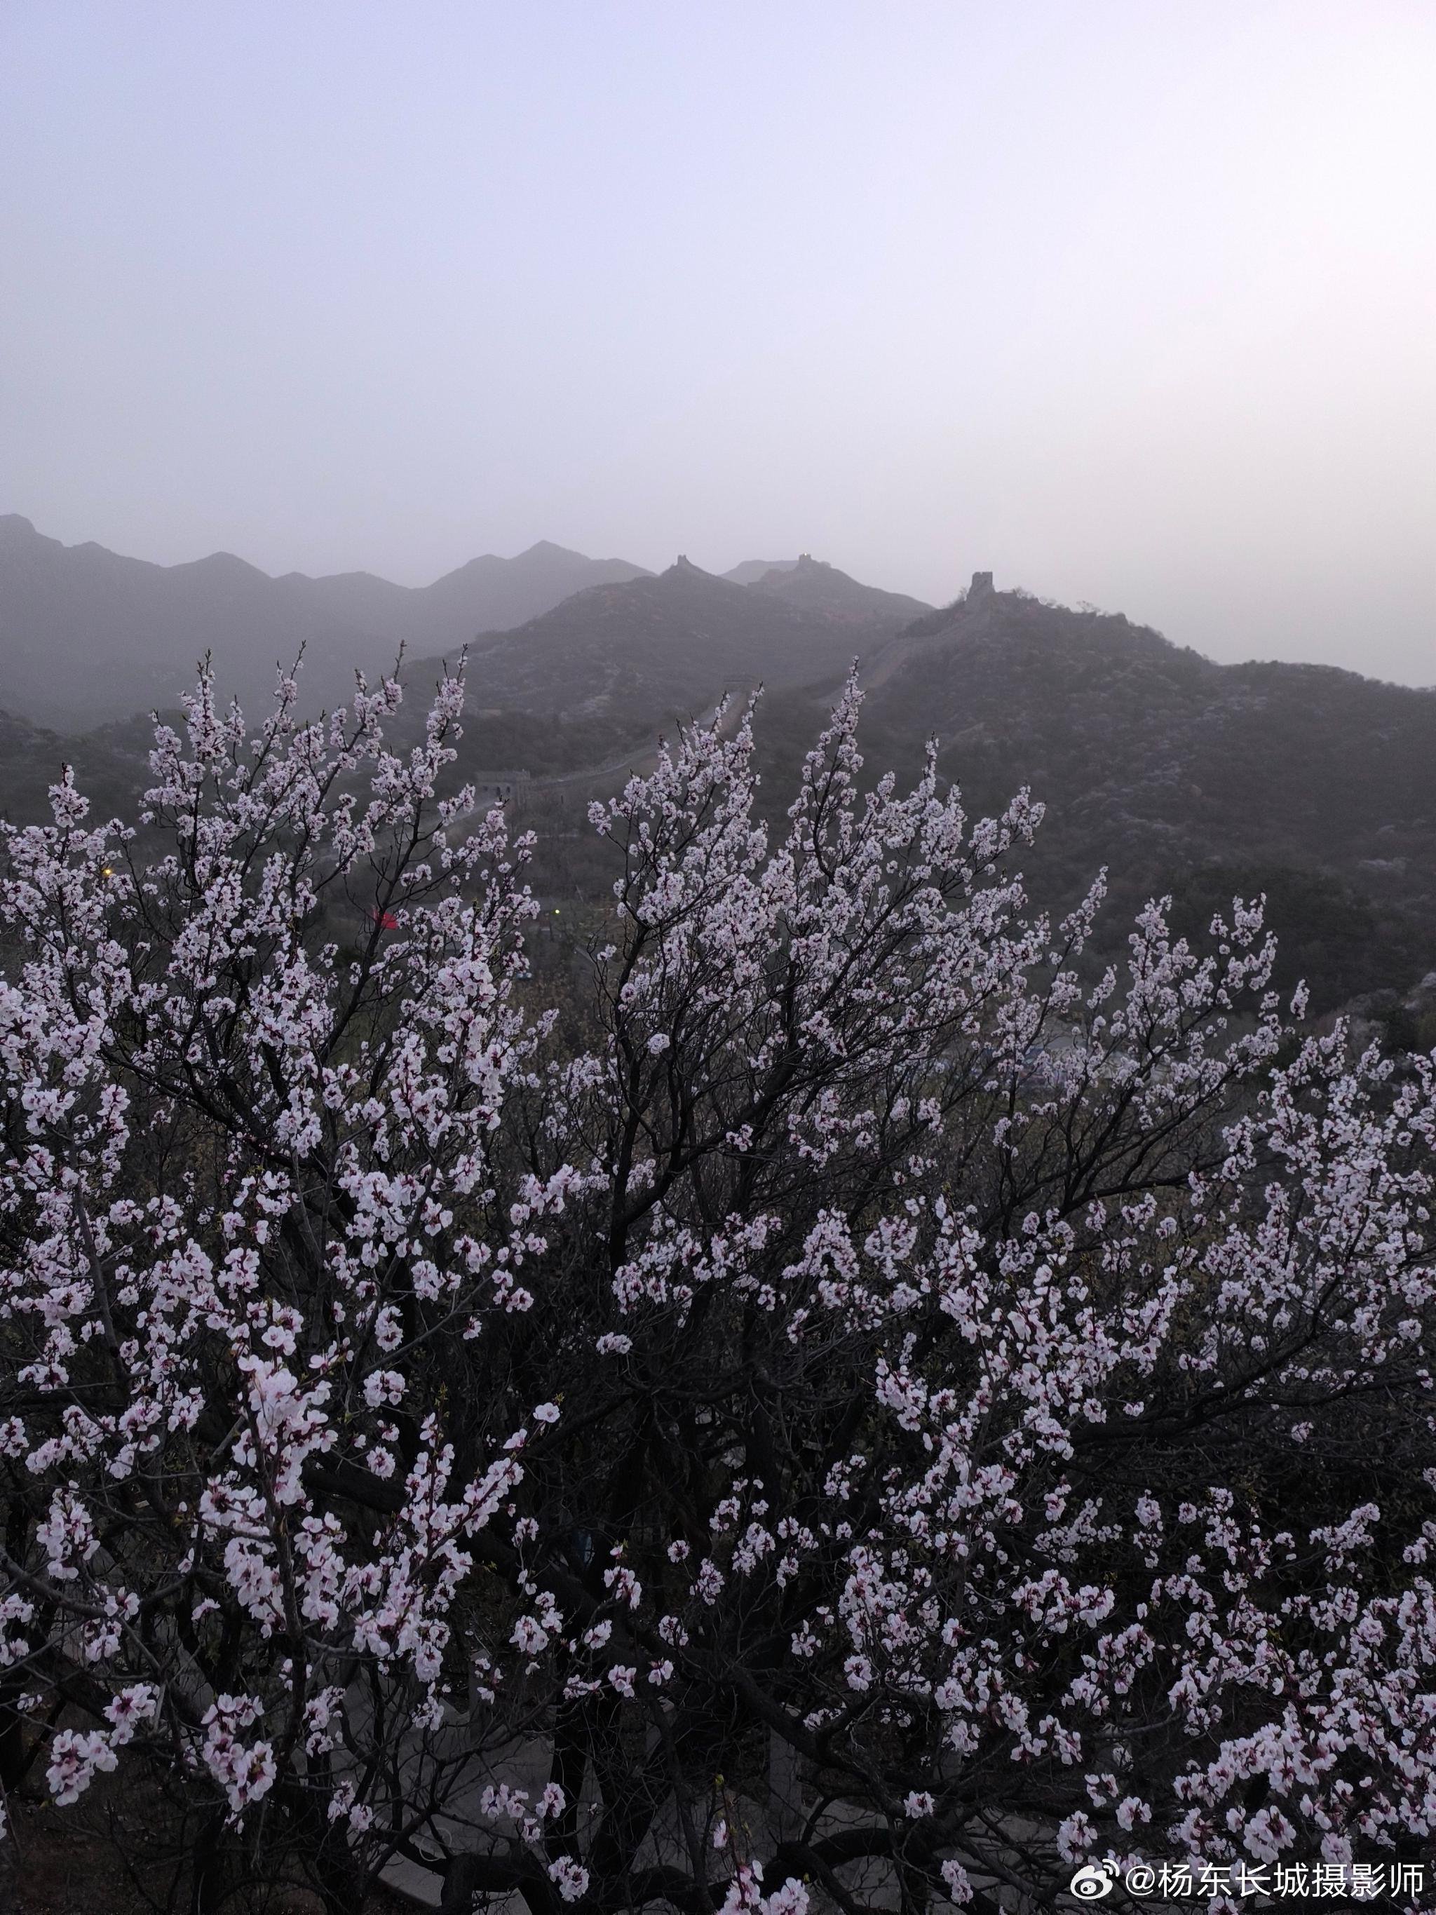
[[[272,578],[228,552],[151,565],[98,544],[65,546],[0,517],[0,705],[82,730],[172,705],[214,655],[222,689],[264,703],[276,663],[304,647],[304,691],[343,699],[354,666],[454,651],[523,624],[586,586],[643,578],[626,559],[588,559],[542,540],[513,559],[471,559],[429,586],[371,573]]]

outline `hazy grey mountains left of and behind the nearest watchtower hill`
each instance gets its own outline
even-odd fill
[[[808,555],[722,578],[678,559],[653,576],[540,540],[412,588],[373,573],[272,578],[228,552],[151,565],[0,517],[0,703],[56,730],[174,705],[205,653],[226,695],[262,703],[301,647],[316,705],[345,699],[354,666],[389,668],[400,645],[423,661],[469,645],[484,705],[594,716],[641,699],[668,716],[726,684],[842,666],[925,611]]]

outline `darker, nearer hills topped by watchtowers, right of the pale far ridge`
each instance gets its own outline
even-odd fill
[[[236,565],[201,561],[243,582]],[[1264,890],[1283,992],[1308,979],[1319,1009],[1371,992],[1396,1003],[1436,973],[1436,689],[1333,666],[1216,665],[1122,615],[996,592],[986,574],[954,605],[900,620],[885,603],[898,594],[833,567],[812,561],[806,580],[797,561],[772,573],[741,584],[680,559],[584,588],[471,647],[456,776],[530,774],[523,822],[540,841],[538,889],[601,896],[588,797],[651,762],[674,716],[760,680],[760,793],[781,818],[856,655],[864,777],[915,774],[936,735],[938,770],[969,816],[1028,785],[1047,806],[1021,858],[1034,896],[1065,910],[1111,869],[1103,958],[1124,959],[1147,896],[1174,892],[1178,929],[1204,935],[1233,892]],[[410,663],[396,745],[419,735],[437,672],[437,657]],[[42,816],[63,758],[98,814],[130,810],[146,749],[136,718],[65,739],[0,712],[0,810]]]

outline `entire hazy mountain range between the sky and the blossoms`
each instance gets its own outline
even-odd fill
[[[364,573],[268,578],[226,555],[155,567],[0,521],[0,808],[42,816],[63,758],[100,810],[126,808],[146,777],[144,705],[174,705],[205,649],[262,703],[299,642],[308,705],[343,699],[354,663],[383,668],[404,642],[400,737],[467,642],[460,770],[481,785],[528,774],[536,881],[555,894],[603,889],[584,795],[724,691],[766,687],[764,802],[781,812],[858,657],[865,776],[915,772],[936,733],[969,812],[1030,785],[1047,804],[1024,858],[1034,887],[1065,906],[1109,866],[1114,954],[1145,896],[1174,890],[1197,931],[1233,890],[1266,890],[1281,979],[1312,979],[1319,1005],[1436,969],[1436,691],[1214,665],[1122,615],[994,592],[986,574],[934,611],[806,553],[716,576],[538,544],[410,590]],[[82,737],[46,730],[96,718]]]

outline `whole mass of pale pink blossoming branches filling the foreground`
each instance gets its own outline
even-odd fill
[[[0,1779],[146,1766],[203,1907],[1421,1852],[1432,1061],[1290,1030],[1256,908],[1093,969],[854,686],[781,829],[747,716],[595,808],[565,1055],[396,695],[201,687],[138,833],[8,835]]]

